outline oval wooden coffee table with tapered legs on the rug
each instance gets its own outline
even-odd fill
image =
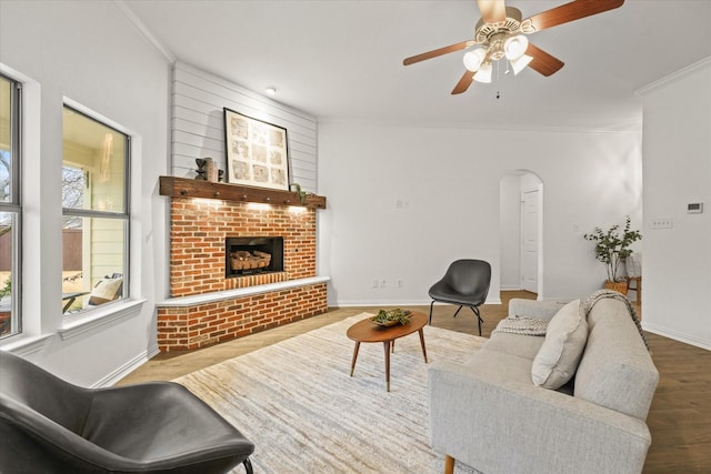
[[[346,335],[356,341],[356,347],[353,349],[353,361],[351,362],[351,376],[356,370],[356,360],[358,359],[358,350],[361,342],[382,342],[385,351],[385,385],[388,392],[390,392],[390,352],[394,352],[395,339],[418,332],[420,334],[420,345],[422,346],[422,355],[424,356],[424,363],[427,364],[427,350],[424,349],[424,333],[422,327],[428,322],[428,316],[423,313],[412,312],[410,313],[410,323],[395,324],[393,326],[384,327],[370,321],[370,317],[363,321],[359,321],[348,329]]]

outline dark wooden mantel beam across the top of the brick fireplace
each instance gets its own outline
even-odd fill
[[[188,178],[160,177],[160,195],[171,198],[203,198],[224,201],[261,202],[267,204],[303,205],[326,209],[326,196],[309,194],[301,202],[299,193],[268,188],[242,186],[239,184],[213,183]]]

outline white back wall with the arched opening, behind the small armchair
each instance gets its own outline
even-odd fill
[[[491,262],[500,290],[500,181],[543,181],[544,300],[585,296],[604,266],[582,239],[595,225],[641,223],[641,135],[321,122],[319,274],[329,304],[427,304],[459,258]],[[407,206],[398,206],[398,203]],[[579,229],[574,232],[574,225]],[[373,280],[385,288],[373,288]],[[397,288],[402,280],[403,286]]]

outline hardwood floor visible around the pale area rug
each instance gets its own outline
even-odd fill
[[[533,299],[522,291],[502,292],[502,304],[482,306],[482,335],[489,337],[497,323],[507,316],[512,297]],[[428,306],[402,306],[429,312]],[[282,327],[252,334],[199,351],[161,353],[129,374],[119,384],[172,380],[283,341],[336,321],[377,312],[380,306],[341,307]],[[463,309],[453,319],[453,306],[435,305],[432,324],[477,334],[477,321]],[[639,311],[639,309],[638,309]],[[647,333],[660,382],[647,418],[652,433],[643,474],[711,473],[711,352],[667,337]],[[594,448],[594,446],[591,446]]]

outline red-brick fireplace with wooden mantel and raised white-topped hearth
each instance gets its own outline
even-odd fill
[[[171,297],[158,304],[161,351],[198,349],[328,310],[328,278],[316,276],[323,198],[302,205],[296,193],[193,181],[161,178],[161,194],[171,196]],[[249,250],[250,242],[269,251],[264,242],[272,238],[280,242],[279,265],[229,271],[230,251]]]

